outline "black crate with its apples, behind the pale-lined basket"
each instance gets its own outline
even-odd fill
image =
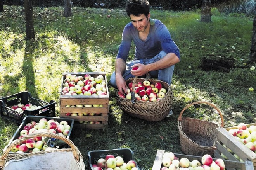
[[[59,135],[65,136],[66,138],[69,138],[73,124],[74,124],[73,119],[26,116],[7,146],[10,146],[10,144],[16,141],[17,139],[23,138],[28,134],[36,133],[36,132],[50,132],[50,133],[59,134]],[[52,141],[49,141],[48,143],[47,138],[38,136],[32,139],[27,139],[22,143],[16,145],[14,148],[12,148],[11,152],[28,153],[28,152],[54,149],[55,147],[50,147],[50,144],[56,144],[56,143],[53,143]],[[63,143],[62,146],[64,145],[66,144]],[[61,145],[59,146],[62,147]]]

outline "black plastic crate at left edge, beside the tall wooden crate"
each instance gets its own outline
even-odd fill
[[[24,110],[23,112],[18,112],[10,108],[11,106],[17,105],[19,103],[31,103],[32,105],[41,106],[41,108],[36,110]],[[29,115],[56,117],[56,102],[54,100],[51,100],[49,103],[47,103],[42,100],[33,98],[29,92],[20,92],[14,95],[3,97],[0,99],[0,104],[1,117],[16,123],[21,123],[24,117]],[[42,111],[43,109],[47,110]]]

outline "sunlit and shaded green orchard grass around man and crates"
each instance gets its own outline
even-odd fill
[[[73,16],[65,18],[62,7],[34,8],[35,41],[24,41],[24,9],[4,9],[0,14],[0,97],[27,90],[40,100],[55,100],[58,115],[63,72],[105,71],[109,80],[123,27],[130,21],[123,9],[74,7]],[[111,18],[106,18],[108,14]],[[161,122],[123,114],[114,97],[116,90],[109,85],[108,128],[73,131],[72,141],[85,165],[91,150],[131,148],[141,169],[152,167],[158,149],[182,153],[177,121],[191,102],[205,100],[216,105],[225,127],[256,122],[256,72],[250,70],[255,63],[247,63],[253,19],[224,15],[216,9],[213,14],[212,22],[206,24],[199,22],[199,11],[151,11],[152,18],[166,24],[181,52],[171,85],[174,114]],[[134,50],[132,46],[129,59]],[[220,124],[216,110],[208,105],[189,107],[183,116]],[[0,124],[2,154],[18,125],[6,119],[0,119]]]

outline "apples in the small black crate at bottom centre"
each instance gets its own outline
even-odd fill
[[[138,170],[135,161],[130,160],[124,162],[121,156],[107,155],[104,158],[97,160],[96,164],[92,165],[92,170]]]

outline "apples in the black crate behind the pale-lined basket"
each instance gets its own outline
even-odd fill
[[[18,139],[24,137],[25,135],[36,133],[36,132],[50,132],[59,134],[62,136],[68,136],[70,130],[70,125],[67,121],[57,122],[54,119],[47,120],[42,118],[39,122],[31,121],[27,123],[23,129],[19,133]],[[16,141],[15,139],[14,141]],[[12,141],[12,143],[14,142]],[[37,152],[41,150],[53,150],[56,148],[52,148],[48,146],[44,140],[44,137],[38,136],[32,139],[27,139],[23,141],[21,144],[16,145],[12,148],[11,152],[15,153],[28,153],[28,152]]]

